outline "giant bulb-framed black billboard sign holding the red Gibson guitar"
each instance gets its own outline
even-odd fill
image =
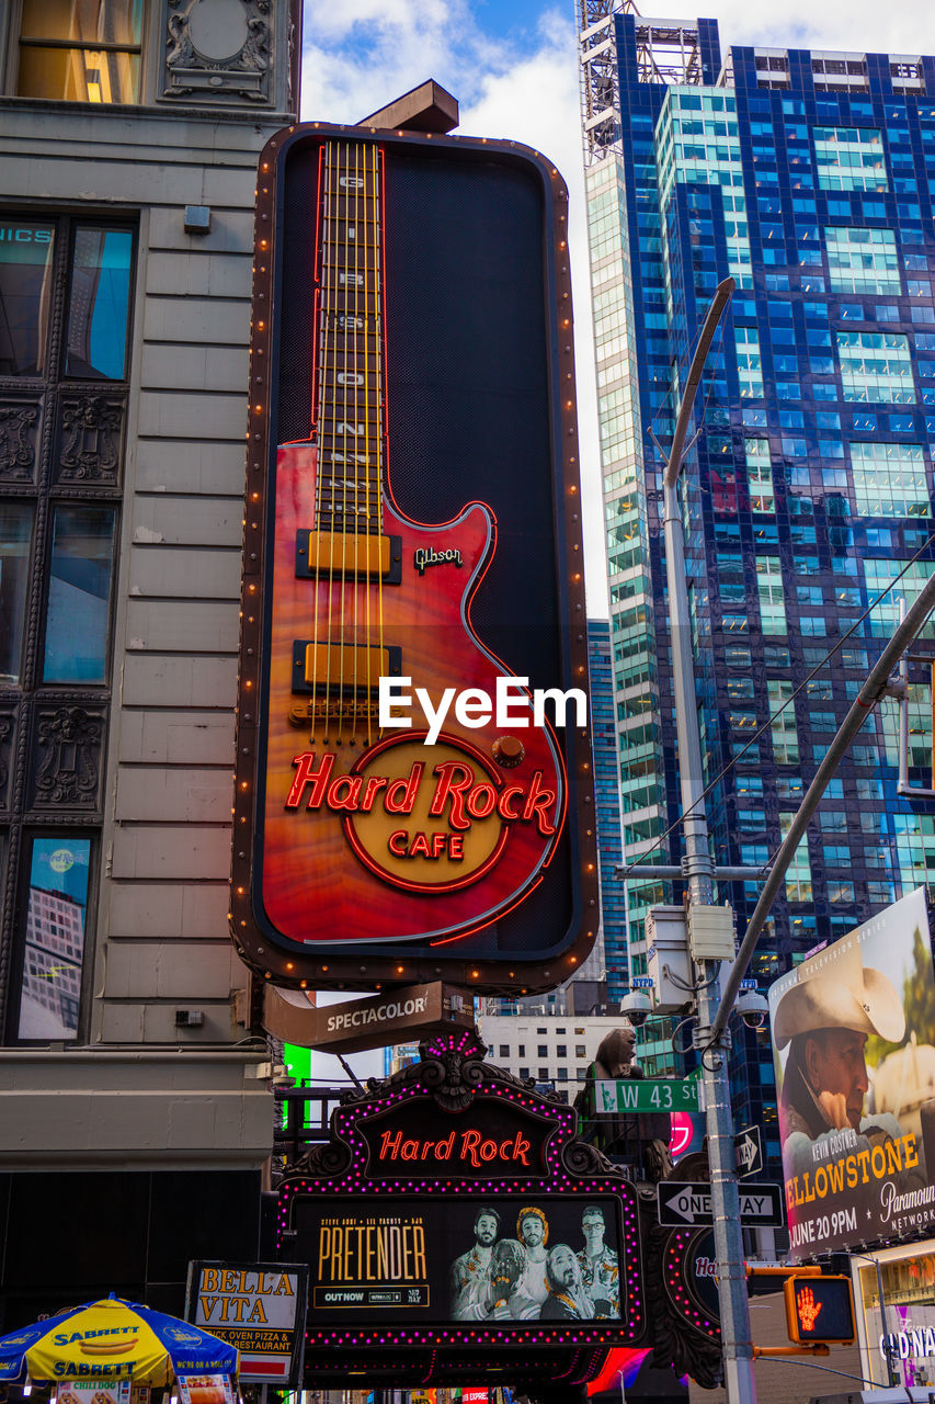
[[[597,922],[564,185],[319,124],[258,181],[237,948],[555,986]]]

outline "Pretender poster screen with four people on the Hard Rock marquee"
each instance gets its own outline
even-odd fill
[[[619,1206],[604,1196],[305,1200],[317,1320],[621,1321]]]

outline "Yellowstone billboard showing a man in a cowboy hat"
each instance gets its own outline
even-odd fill
[[[935,1220],[935,977],[925,890],[769,990],[792,1251]]]

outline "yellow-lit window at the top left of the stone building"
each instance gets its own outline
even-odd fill
[[[139,102],[143,0],[22,0],[18,97]]]

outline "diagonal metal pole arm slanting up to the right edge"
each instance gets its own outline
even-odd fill
[[[802,804],[792,817],[792,824],[789,826],[789,833],[776,849],[776,856],[774,859],[772,868],[769,869],[769,876],[760,893],[760,901],[754,907],[752,917],[747,924],[747,932],[740,943],[740,951],[737,958],[730,967],[730,974],[727,976],[727,983],[724,986],[724,993],[720,1001],[720,1008],[715,1015],[715,1022],[712,1024],[712,1038],[717,1038],[733,1008],[734,1000],[737,998],[737,991],[740,990],[740,981],[747,973],[747,966],[754,953],[754,948],[760,938],[760,932],[767,924],[767,917],[769,915],[769,908],[782,886],[783,878],[786,876],[786,869],[792,862],[793,854],[799,847],[806,828],[809,827],[809,820],[814,814],[816,809],[824,792],[828,786],[828,781],[835,774],[838,765],[844,760],[844,754],[849,747],[851,741],[861,730],[868,716],[880,701],[880,698],[890,692],[891,695],[898,695],[900,681],[893,678],[896,668],[898,667],[900,658],[908,649],[910,643],[920,632],[929,614],[935,608],[935,576],[931,576],[918,595],[910,605],[906,618],[900,621],[896,626],[893,637],[883,649],[883,653],[870,668],[866,682],[858,692],[854,705],[844,722],[837,736],[828,747],[828,754],[821,761],[811,785],[806,792]]]

